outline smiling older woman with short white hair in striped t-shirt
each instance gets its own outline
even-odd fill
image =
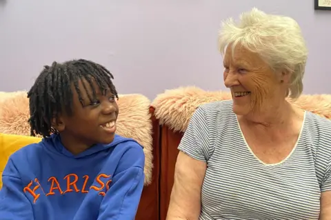
[[[331,121],[285,99],[303,90],[297,22],[253,9],[219,44],[233,100],[194,112],[167,219],[331,219]]]

